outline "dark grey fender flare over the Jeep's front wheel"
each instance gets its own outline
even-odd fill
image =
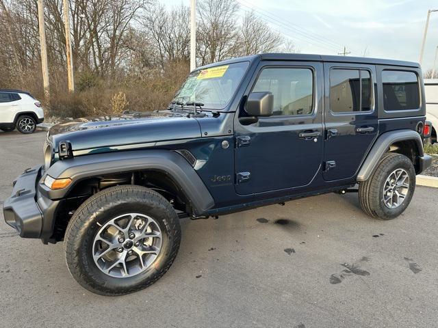
[[[42,193],[51,200],[60,200],[80,180],[103,174],[136,172],[147,169],[168,174],[185,197],[190,200],[196,215],[201,215],[214,206],[213,197],[194,168],[183,156],[170,150],[108,152],[60,160],[45,172],[42,181],[46,175],[49,175],[52,178],[70,178],[73,183],[60,190],[51,190],[44,184],[40,184],[40,187]]]

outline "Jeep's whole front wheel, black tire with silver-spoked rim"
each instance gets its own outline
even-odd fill
[[[151,189],[117,186],[81,204],[70,219],[64,249],[68,270],[84,288],[125,295],[157,281],[177,256],[179,219]]]

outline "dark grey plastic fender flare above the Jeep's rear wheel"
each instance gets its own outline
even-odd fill
[[[387,152],[389,146],[391,144],[396,143],[398,141],[415,141],[417,148],[419,150],[419,156],[424,156],[423,152],[423,141],[420,135],[413,130],[397,130],[397,131],[389,131],[383,133],[379,136],[374,145],[372,146],[370,152],[366,156],[365,161],[363,161],[361,165],[361,169],[357,174],[357,181],[365,181],[370,178],[374,168],[378,164],[378,161],[382,158],[383,154]]]

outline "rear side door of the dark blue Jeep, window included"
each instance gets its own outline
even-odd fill
[[[354,178],[378,135],[373,65],[324,63],[324,180]]]

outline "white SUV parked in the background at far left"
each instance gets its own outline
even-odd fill
[[[41,103],[21,90],[0,89],[0,130],[33,133],[44,121]]]

